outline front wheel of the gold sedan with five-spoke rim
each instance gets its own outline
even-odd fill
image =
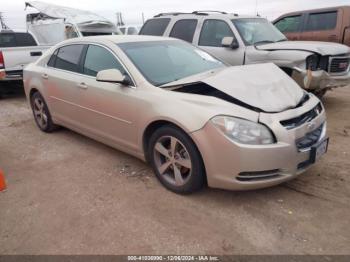
[[[181,129],[168,125],[150,138],[148,159],[164,187],[177,194],[190,194],[205,183],[202,157],[192,139]]]

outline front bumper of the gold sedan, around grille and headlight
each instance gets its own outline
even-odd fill
[[[235,143],[211,121],[203,129],[193,132],[191,136],[205,163],[208,185],[229,190],[258,189],[280,184],[304,172],[310,167],[311,148],[299,150],[296,141],[311,131],[310,126],[316,129],[323,125],[324,130],[318,141],[326,138],[325,111],[323,109],[312,122],[291,130],[280,122],[311,110],[318,99],[313,97],[311,100],[307,106],[279,114],[261,113],[259,121],[273,131],[278,141],[276,144],[255,146]],[[254,175],[260,176],[260,179],[242,179]]]

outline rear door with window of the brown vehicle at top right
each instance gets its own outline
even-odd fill
[[[342,9],[307,13],[300,40],[341,43],[342,20]]]

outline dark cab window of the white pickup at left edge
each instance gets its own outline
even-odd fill
[[[36,46],[36,42],[28,33],[1,33],[0,47]]]

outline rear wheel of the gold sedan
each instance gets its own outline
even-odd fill
[[[30,97],[30,104],[33,111],[35,123],[39,129],[45,133],[51,133],[58,128],[52,122],[51,114],[47,104],[39,92],[35,92]]]

